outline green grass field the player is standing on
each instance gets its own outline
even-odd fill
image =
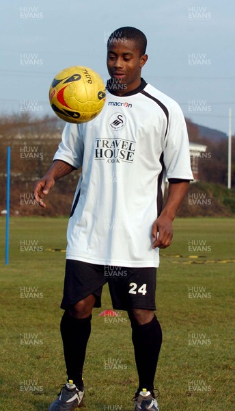
[[[53,251],[65,249],[66,225],[62,218],[12,218],[5,266],[0,219],[1,411],[46,411],[66,380],[59,334],[65,253]],[[176,219],[174,242],[161,252],[161,411],[235,409],[234,226],[232,219]],[[102,308],[93,312],[81,410],[133,411],[130,323],[126,312],[118,322],[98,316],[108,308],[105,286]]]

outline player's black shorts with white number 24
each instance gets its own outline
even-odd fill
[[[91,294],[96,297],[94,307],[101,307],[102,286],[106,283],[115,310],[156,310],[156,268],[105,266],[77,260],[66,260],[61,308],[65,310]]]

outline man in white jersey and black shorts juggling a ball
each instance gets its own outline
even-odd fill
[[[162,341],[154,314],[158,249],[171,244],[172,221],[193,175],[182,111],[141,78],[148,60],[146,45],[146,36],[134,27],[111,34],[105,108],[89,123],[66,124],[51,169],[34,187],[34,197],[44,207],[43,197],[55,181],[83,166],[68,223],[61,302],[68,383],[50,411],[74,410],[83,401],[92,309],[100,307],[106,282],[113,308],[128,311],[133,329],[139,375],[135,411],[158,411],[154,399]],[[165,177],[169,194],[162,209]],[[119,271],[122,266],[126,276],[112,275],[111,266]]]

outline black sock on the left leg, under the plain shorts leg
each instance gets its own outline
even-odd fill
[[[83,385],[83,364],[91,333],[91,319],[92,315],[86,319],[76,319],[65,311],[60,323],[68,379],[79,386]]]

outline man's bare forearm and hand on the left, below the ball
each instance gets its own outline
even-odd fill
[[[61,161],[55,160],[51,165],[49,171],[42,177],[38,182],[33,186],[33,197],[38,201],[38,204],[45,208],[46,204],[42,201],[44,195],[47,195],[51,188],[55,186],[57,179],[64,177],[65,175],[71,173],[75,170],[75,167],[70,164]]]

